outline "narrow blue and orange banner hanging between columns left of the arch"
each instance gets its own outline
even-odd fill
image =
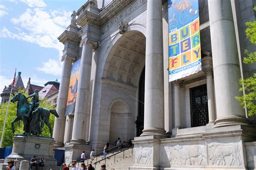
[[[70,115],[75,111],[80,62],[81,60],[77,60],[71,67],[68,100],[66,101],[66,115]]]

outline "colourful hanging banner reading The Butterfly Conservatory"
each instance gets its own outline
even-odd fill
[[[201,70],[198,0],[168,0],[169,81]]]

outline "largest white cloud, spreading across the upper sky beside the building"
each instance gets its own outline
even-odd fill
[[[16,32],[11,32],[6,27],[0,30],[0,37],[13,38],[38,44],[41,47],[55,48],[62,55],[63,45],[58,37],[70,24],[71,12],[68,11],[45,11],[43,9],[27,9],[18,18],[12,18]]]

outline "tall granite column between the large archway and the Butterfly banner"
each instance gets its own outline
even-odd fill
[[[145,115],[141,136],[165,136],[162,1],[147,1]]]

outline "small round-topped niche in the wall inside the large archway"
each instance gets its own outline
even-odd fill
[[[113,144],[119,137],[122,141],[127,141],[129,133],[128,124],[131,117],[129,105],[122,99],[117,98],[109,105],[110,113],[110,134],[109,142]]]

